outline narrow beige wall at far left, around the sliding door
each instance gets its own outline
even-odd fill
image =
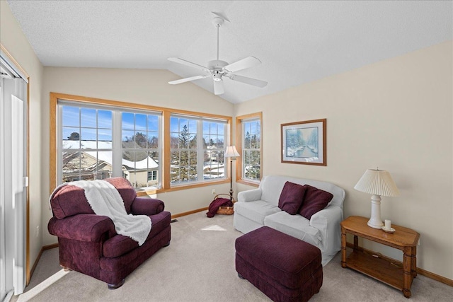
[[[30,76],[29,93],[29,137],[30,137],[30,187],[29,187],[29,209],[30,209],[30,267],[34,265],[42,248],[42,225],[41,225],[41,80],[42,65],[30,47],[27,38],[23,35],[20,26],[11,13],[6,1],[0,1],[0,43],[18,64]],[[39,233],[36,233],[39,227]],[[45,226],[47,232],[47,226]]]

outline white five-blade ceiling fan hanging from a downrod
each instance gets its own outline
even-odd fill
[[[214,13],[214,12],[212,12]],[[176,81],[169,81],[169,84],[179,84],[179,83],[185,83],[188,81],[195,81],[198,79],[205,79],[208,76],[212,76],[212,79],[214,80],[214,94],[215,95],[220,95],[224,93],[224,84],[223,84],[223,79],[222,78],[228,78],[232,81],[239,81],[242,83],[246,83],[249,85],[253,86],[258,86],[258,87],[265,87],[268,85],[268,82],[257,80],[257,79],[252,79],[248,78],[246,76],[239,76],[238,74],[233,74],[236,71],[240,71],[243,69],[251,68],[253,66],[257,66],[261,64],[261,61],[257,59],[256,57],[246,57],[244,59],[241,59],[237,62],[234,63],[227,63],[225,61],[219,60],[219,27],[224,24],[224,21],[229,20],[226,17],[220,16],[218,13],[214,13],[216,17],[212,19],[212,24],[217,28],[217,59],[212,60],[207,63],[207,66],[202,66],[193,62],[189,62],[185,59],[180,59],[180,58],[175,58],[171,57],[168,58],[169,61],[171,62],[176,62],[178,64],[183,64],[187,66],[192,66],[196,69],[200,69],[201,71],[205,71],[206,74],[200,75],[200,76],[190,76],[189,78],[185,79],[179,79]]]

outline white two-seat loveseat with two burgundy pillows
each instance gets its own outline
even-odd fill
[[[330,192],[333,198],[310,220],[299,214],[290,215],[278,207],[280,193],[287,181]],[[239,192],[234,204],[234,228],[241,233],[261,226],[275,228],[318,247],[322,265],[326,265],[341,247],[340,222],[343,220],[344,200],[345,190],[330,182],[268,175],[261,180],[258,189]]]

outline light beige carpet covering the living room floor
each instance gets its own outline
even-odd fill
[[[135,269],[119,289],[79,272],[64,272],[58,248],[43,252],[25,293],[11,301],[270,301],[234,267],[233,216],[207,218],[205,211],[171,223],[171,244]],[[343,269],[340,252],[323,267],[320,301],[452,301],[453,287],[424,276],[414,279],[410,300],[401,291]]]

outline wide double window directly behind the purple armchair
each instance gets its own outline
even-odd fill
[[[122,176],[137,189],[159,187],[160,113],[64,100],[58,107],[61,182]]]

